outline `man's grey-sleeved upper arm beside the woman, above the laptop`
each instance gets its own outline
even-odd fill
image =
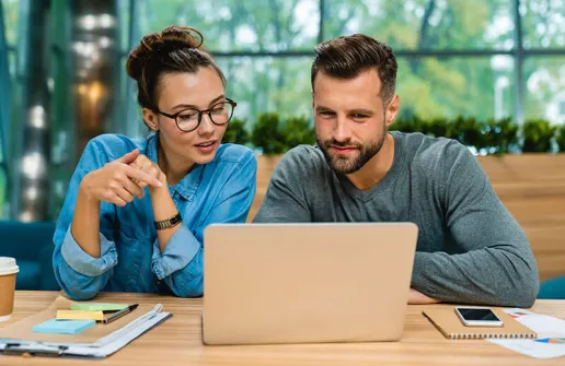
[[[312,221],[304,193],[305,152],[295,147],[277,164],[254,223],[308,223]]]

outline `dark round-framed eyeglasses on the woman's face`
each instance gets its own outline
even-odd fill
[[[210,109],[195,109],[186,108],[174,115],[166,114],[159,109],[155,111],[160,115],[174,119],[176,127],[184,132],[191,132],[196,130],[203,121],[203,114],[208,114],[210,120],[216,126],[223,126],[228,123],[233,116],[233,109],[238,104],[230,98],[226,98],[224,102],[220,102],[214,105]]]

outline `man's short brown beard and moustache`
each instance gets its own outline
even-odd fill
[[[387,139],[388,128],[384,125],[382,133],[377,138],[377,140],[369,142],[364,145],[358,142],[351,142],[350,140],[338,142],[334,139],[320,141],[316,137],[318,145],[327,164],[338,174],[353,174],[361,169],[367,162],[369,162],[374,155],[377,155],[384,144],[384,140]],[[332,146],[353,146],[356,149],[355,152],[348,155],[338,155],[336,153],[331,152]]]

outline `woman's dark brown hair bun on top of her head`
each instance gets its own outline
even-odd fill
[[[151,33],[131,50],[126,62],[127,74],[139,80],[146,63],[157,54],[181,48],[203,47],[204,37],[200,32],[189,26],[171,25],[161,32]]]

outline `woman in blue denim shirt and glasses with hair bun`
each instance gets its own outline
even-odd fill
[[[242,223],[255,196],[251,150],[220,144],[235,103],[198,31],[145,36],[127,60],[153,133],[91,140],[55,232],[56,278],[76,299],[100,291],[203,294],[203,232]]]

